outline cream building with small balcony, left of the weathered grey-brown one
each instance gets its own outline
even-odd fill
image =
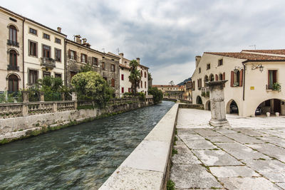
[[[45,76],[64,79],[66,35],[30,19],[24,22],[24,88]]]

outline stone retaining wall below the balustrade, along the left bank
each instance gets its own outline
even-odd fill
[[[7,139],[19,139],[28,136],[32,131],[42,130],[43,127],[57,127],[71,123],[93,120],[111,113],[126,112],[140,107],[152,105],[152,101],[124,101],[114,102],[103,110],[65,110],[61,112],[48,112],[26,117],[12,117],[0,119],[0,141]]]

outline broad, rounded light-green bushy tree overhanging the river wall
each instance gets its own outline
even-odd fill
[[[74,75],[71,85],[78,93],[78,100],[94,100],[100,108],[107,105],[114,93],[107,81],[94,71]]]

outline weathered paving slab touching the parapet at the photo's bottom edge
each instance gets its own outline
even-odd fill
[[[175,181],[175,189],[222,188],[217,179],[200,164],[173,164],[170,179]]]

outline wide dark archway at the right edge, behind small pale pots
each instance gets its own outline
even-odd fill
[[[270,112],[271,115],[275,115],[276,112],[285,115],[285,102],[279,99],[265,100],[257,106],[254,115],[266,115],[266,112]]]

